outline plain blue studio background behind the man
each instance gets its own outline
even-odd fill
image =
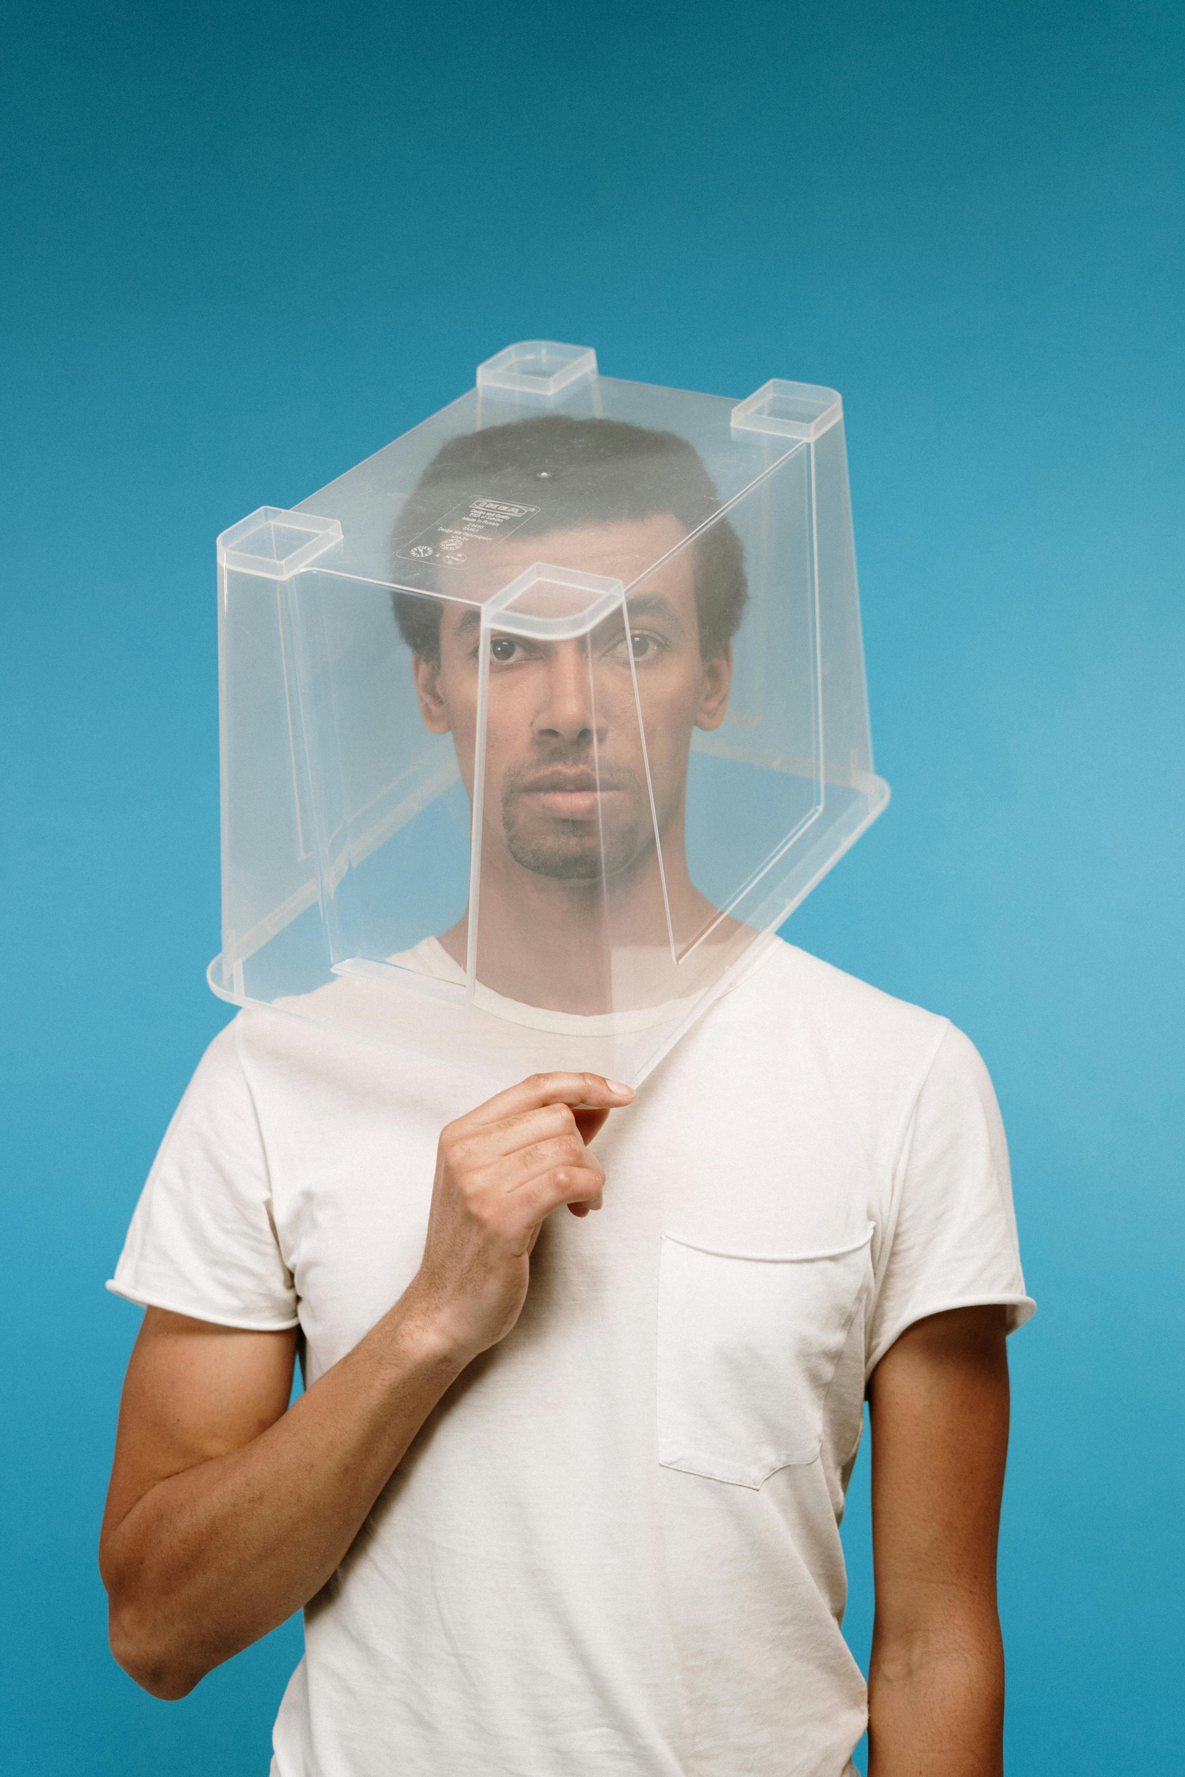
[[[894,803],[791,935],[961,1024],[1013,1343],[1009,1768],[1176,1768],[1180,5],[4,9],[0,1766],[266,1772],[290,1624],[181,1704],[105,1646],[103,1292],[226,1016],[213,537],[512,339],[844,393]],[[865,1459],[846,1526],[871,1622]]]

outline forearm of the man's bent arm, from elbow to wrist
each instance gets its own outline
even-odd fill
[[[151,1487],[103,1542],[112,1647],[158,1697],[309,1601],[464,1359],[407,1299],[251,1443]]]

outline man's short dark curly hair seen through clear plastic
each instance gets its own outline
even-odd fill
[[[700,453],[673,432],[622,419],[538,414],[485,432],[464,432],[435,453],[394,528],[394,549],[474,494],[537,505],[517,535],[672,514],[689,531],[720,512]],[[540,498],[544,496],[544,498]],[[400,634],[425,659],[441,657],[441,608],[414,594],[391,595]],[[748,588],[741,538],[718,517],[695,544],[700,654],[712,659],[741,626]]]

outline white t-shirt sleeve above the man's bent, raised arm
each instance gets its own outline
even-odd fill
[[[146,1308],[272,1333],[297,1326],[297,1292],[238,1045],[235,1020],[197,1064],[107,1288]]]

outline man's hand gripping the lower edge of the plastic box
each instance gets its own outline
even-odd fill
[[[604,1171],[586,1141],[632,1096],[599,1073],[537,1073],[442,1130],[405,1306],[464,1363],[519,1319],[545,1217],[561,1203],[574,1215],[600,1208]]]

